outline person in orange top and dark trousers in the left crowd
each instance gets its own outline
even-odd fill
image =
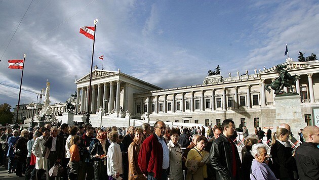
[[[70,140],[70,149],[69,149],[69,154],[70,154],[70,161],[68,163],[68,167],[70,168],[69,172],[69,179],[70,180],[76,180],[77,179],[77,174],[78,174],[78,168],[79,168],[79,152],[78,152],[78,147],[77,145],[80,143],[79,136],[74,135],[71,137]]]

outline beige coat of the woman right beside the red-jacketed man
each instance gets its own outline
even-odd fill
[[[170,179],[182,180],[183,168],[182,168],[182,146],[177,143],[174,145],[172,140],[167,144],[170,155]]]

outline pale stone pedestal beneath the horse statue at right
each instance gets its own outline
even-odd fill
[[[274,129],[281,123],[287,123],[295,139],[299,139],[299,129],[304,128],[307,124],[302,117],[300,107],[300,96],[276,96],[274,98],[276,106],[276,120],[273,124]]]

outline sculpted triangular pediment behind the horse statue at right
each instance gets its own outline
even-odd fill
[[[319,61],[307,61],[307,62],[300,62],[300,61],[289,61],[283,63],[282,65],[287,65],[287,70],[293,69],[305,69],[309,67],[319,67]],[[277,73],[276,66],[261,71],[259,74],[268,74],[268,73]]]

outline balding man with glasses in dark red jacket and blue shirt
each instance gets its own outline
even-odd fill
[[[138,165],[147,179],[167,180],[170,160],[169,150],[163,138],[165,129],[163,121],[156,121],[154,133],[144,140],[138,155]]]

